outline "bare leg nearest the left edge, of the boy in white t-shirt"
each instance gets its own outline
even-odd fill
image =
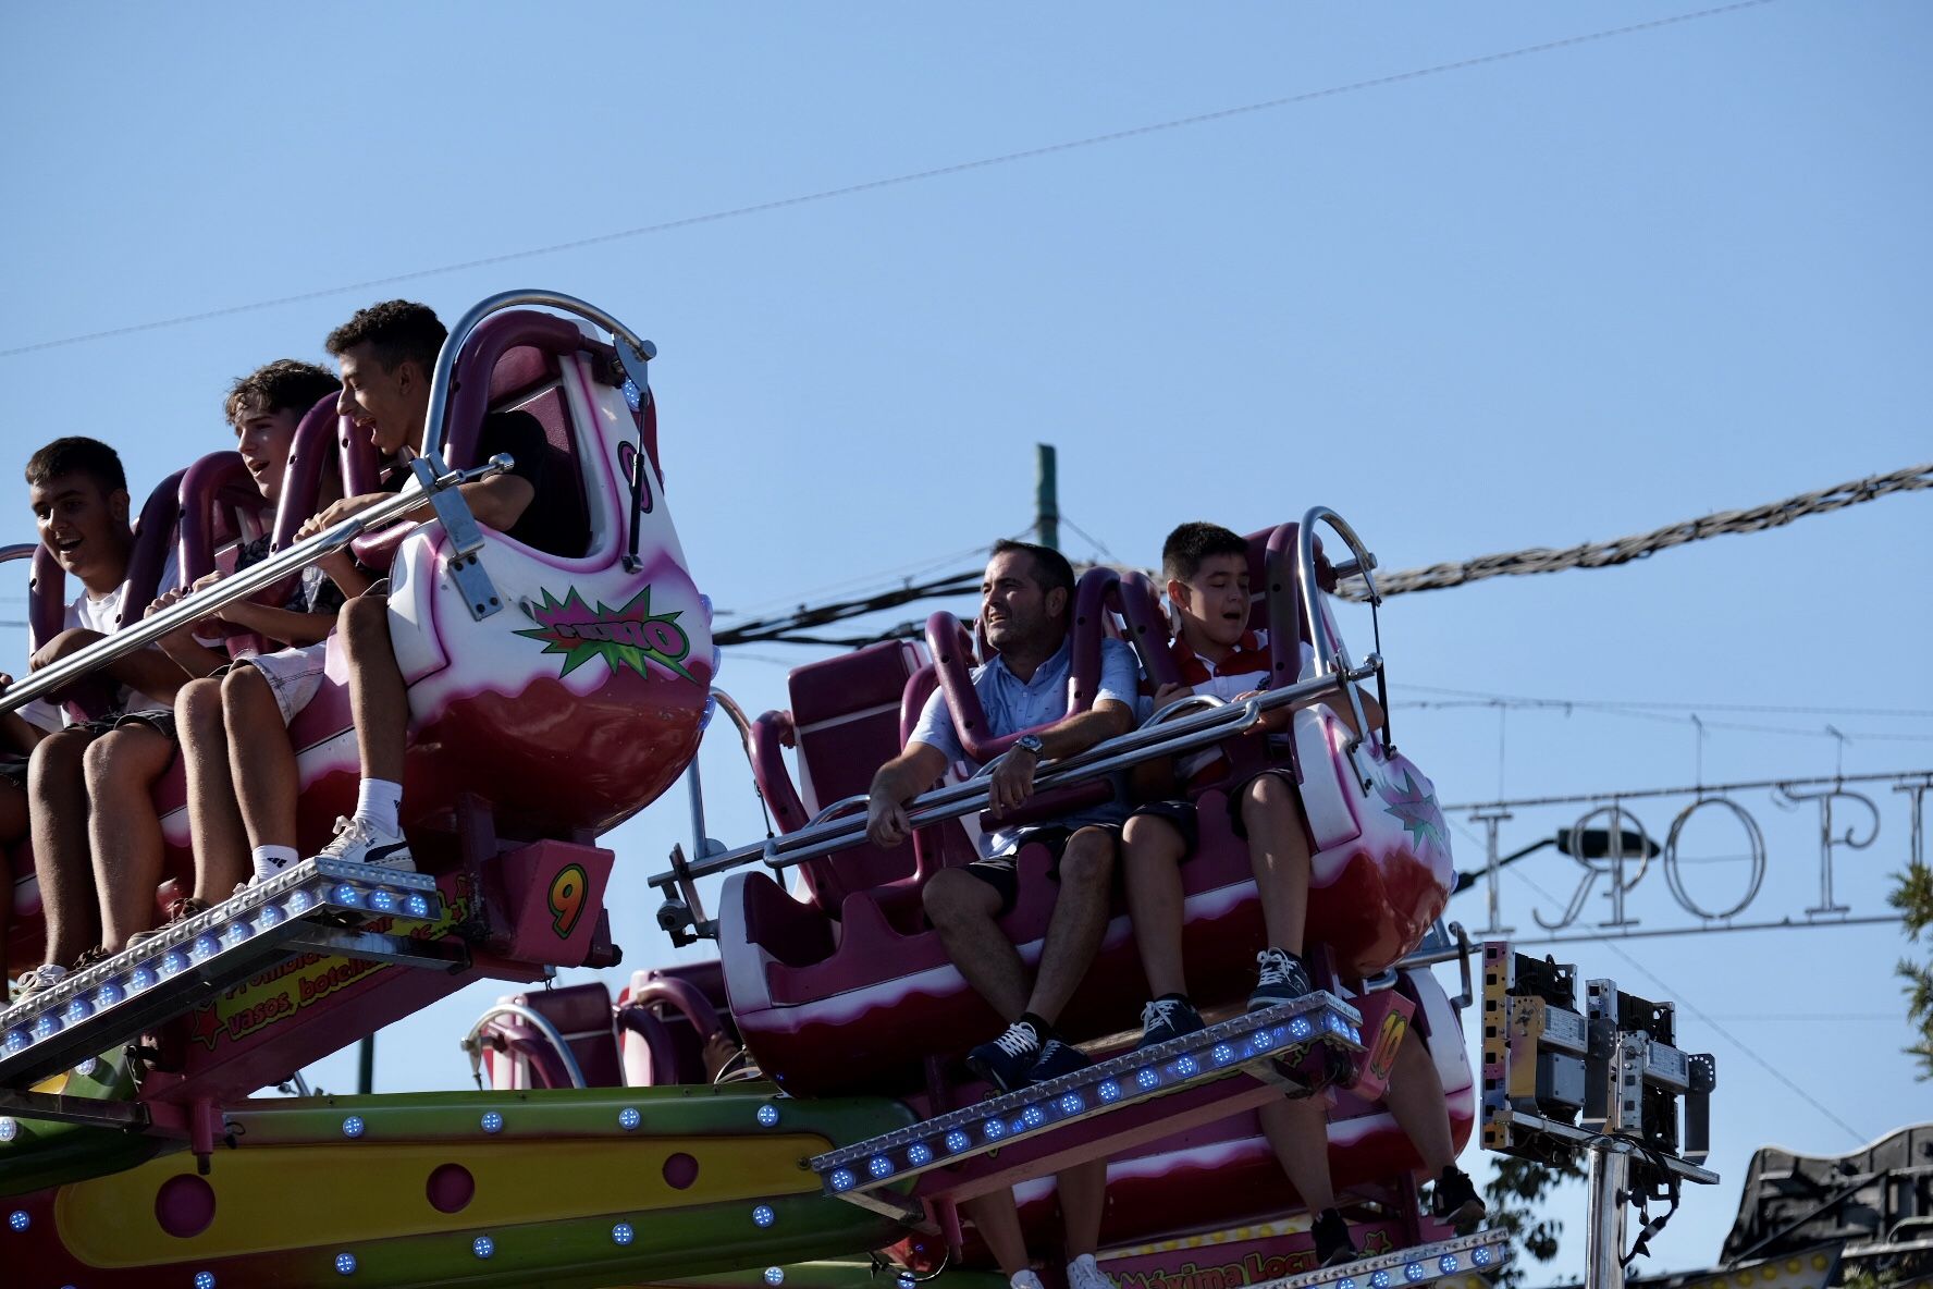
[[[87,852],[85,758],[93,734],[62,730],[33,748],[27,802],[33,872],[46,918],[46,960],[72,966],[101,937],[95,866]]]

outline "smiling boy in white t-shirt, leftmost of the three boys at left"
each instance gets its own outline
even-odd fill
[[[41,671],[122,624],[133,528],[120,456],[97,439],[56,439],[35,452],[27,462],[27,489],[41,541],[81,584],[68,605],[66,630],[29,659],[29,669]],[[162,587],[172,584],[174,560],[168,560]],[[130,829],[160,837],[149,792],[174,759],[168,703],[188,673],[160,649],[135,649],[104,665],[101,674],[118,686],[108,717],[62,727],[60,713],[39,702],[19,713],[23,725],[44,730],[33,738],[25,788],[46,918],[46,960],[21,978],[23,991],[58,984],[70,966],[102,957],[89,800],[114,802],[112,814]],[[12,732],[25,734],[17,727]]]

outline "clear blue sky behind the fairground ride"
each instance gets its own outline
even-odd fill
[[[1688,6],[1689,8],[1689,6]],[[1342,87],[1686,12],[1664,4],[10,6],[0,350]],[[1933,456],[1925,68],[1908,2],[1778,0],[918,184],[520,263],[10,354],[6,450],[95,433],[139,487],[224,446],[226,383],[321,358],[354,307],[454,315],[512,286],[586,296],[657,340],[671,501],[721,609],[984,545],[1061,504],[1150,562],[1177,520],[1251,530],[1326,502],[1384,568],[1608,539]],[[1392,601],[1398,700],[1442,686],[1657,700],[1705,719],[1711,779],[1933,765],[1925,533],[1894,497],[1608,572]],[[31,537],[25,506],[12,539]],[[953,566],[959,560],[943,560]],[[21,616],[21,587],[0,591]],[[968,605],[961,605],[966,609]],[[910,616],[910,615],[899,615]],[[0,628],[0,655],[25,634]],[[1357,634],[1357,649],[1367,636]],[[769,645],[721,682],[783,705]],[[15,663],[17,665],[17,663]],[[1720,713],[1718,703],[1921,715]],[[1689,783],[1695,729],[1577,709],[1398,709],[1448,802]],[[727,738],[713,833],[760,835]],[[1883,794],[1838,891],[1879,912],[1906,858]],[[1672,808],[1684,804],[1674,802]],[[1817,889],[1817,823],[1767,831],[1759,908]],[[1566,812],[1525,812],[1515,848]],[[1662,831],[1670,812],[1645,808]],[[667,800],[611,839],[628,962],[671,957],[644,885],[684,837]],[[1691,846],[1699,837],[1688,841]],[[1459,837],[1459,858],[1479,858]],[[1730,837],[1711,829],[1703,854]],[[1688,870],[1707,902],[1738,866]],[[1564,895],[1570,860],[1529,881]],[[1512,881],[1529,926],[1552,901]],[[1682,924],[1657,875],[1651,926]],[[1602,901],[1589,912],[1602,916]],[[1481,908],[1459,901],[1469,924]],[[1655,1266],[1705,1266],[1749,1152],[1842,1152],[1933,1117],[1912,1076],[1890,928],[1624,947],[1718,1057],[1726,1185]],[[1664,993],[1602,947],[1591,976]],[[379,1088],[466,1078],[497,989],[381,1042]],[[1749,1047],[1854,1131],[1765,1074]],[[1832,1061],[1827,1053],[1852,1059]],[[354,1082],[352,1059],[311,1071]],[[1473,1152],[1475,1158],[1475,1152]],[[1566,1196],[1577,1270],[1581,1206]],[[1533,1275],[1533,1281],[1541,1275]]]

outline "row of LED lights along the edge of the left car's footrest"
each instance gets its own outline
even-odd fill
[[[37,1047],[66,1030],[85,1028],[95,1049],[133,1038],[139,1030],[114,1034],[120,1026],[108,1024],[130,1003],[170,993],[164,986],[176,978],[205,982],[242,962],[247,962],[242,974],[259,970],[265,955],[286,957],[282,941],[300,939],[321,914],[435,922],[443,916],[443,897],[435,877],[427,874],[305,860],[0,1013],[0,1082],[14,1080],[15,1071],[39,1055]],[[153,1007],[137,1009],[141,1028],[188,1011],[195,1001],[191,989],[184,989],[180,1001],[176,1011],[162,1017]],[[39,1073],[27,1074],[29,1078],[50,1073],[41,1069],[44,1061],[31,1063]]]

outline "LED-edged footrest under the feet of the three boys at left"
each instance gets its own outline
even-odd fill
[[[450,966],[441,945],[377,926],[441,918],[443,897],[427,874],[303,860],[0,1013],[0,1088],[25,1088],[131,1042],[296,953]]]

